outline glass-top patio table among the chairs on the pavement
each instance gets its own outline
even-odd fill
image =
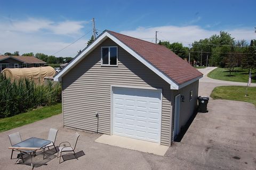
[[[48,141],[45,139],[31,137],[25,141],[12,145],[12,148],[17,149],[22,153],[29,154],[31,157],[31,166],[33,168],[32,157],[33,155],[36,154],[36,150],[43,149],[43,154],[45,155],[45,146],[50,143],[51,141]],[[43,156],[43,159],[44,159],[44,156]]]

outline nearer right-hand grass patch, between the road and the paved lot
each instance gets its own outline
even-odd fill
[[[256,106],[256,87],[248,87],[245,96],[246,86],[220,86],[212,91],[211,98],[227,99],[253,103]]]

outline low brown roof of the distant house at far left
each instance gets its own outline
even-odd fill
[[[11,55],[0,55],[0,61],[5,60],[5,59],[15,59],[18,61],[21,61],[23,63],[42,63],[46,64],[43,60],[35,58],[35,56],[11,56]]]

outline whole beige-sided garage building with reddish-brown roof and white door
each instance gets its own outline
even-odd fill
[[[64,126],[170,146],[196,112],[201,77],[164,46],[105,30],[54,80]]]

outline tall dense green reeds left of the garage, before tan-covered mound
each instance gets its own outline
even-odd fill
[[[0,118],[18,115],[39,106],[50,106],[61,101],[61,85],[48,81],[36,85],[28,79],[11,83],[0,75]]]

